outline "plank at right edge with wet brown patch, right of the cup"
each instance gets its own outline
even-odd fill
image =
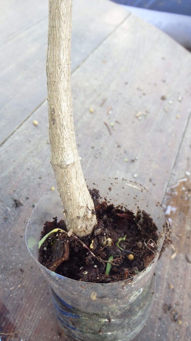
[[[174,243],[156,267],[153,308],[148,322],[135,338],[146,340],[191,340],[191,120],[179,149],[163,201],[171,221]],[[157,309],[156,309],[157,307]]]

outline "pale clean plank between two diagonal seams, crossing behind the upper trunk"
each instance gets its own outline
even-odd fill
[[[20,12],[19,15],[22,15],[22,8]],[[126,11],[109,0],[75,0],[72,70],[76,69],[127,16]],[[31,21],[35,20],[36,14],[32,11]],[[23,18],[22,25],[24,22]],[[46,98],[46,49],[47,11],[40,21],[0,46],[0,143]]]

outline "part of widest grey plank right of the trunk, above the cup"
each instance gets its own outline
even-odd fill
[[[190,68],[189,52],[134,16],[89,57],[73,78],[76,135],[88,175],[137,175],[163,199],[191,110]]]

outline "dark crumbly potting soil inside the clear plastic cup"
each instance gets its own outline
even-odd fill
[[[62,276],[83,282],[112,283],[132,278],[156,255],[157,226],[145,211],[138,210],[135,215],[100,202],[95,189],[90,194],[97,217],[93,234],[69,237],[63,220],[46,221],[41,238],[55,228],[64,232],[57,231],[46,238],[39,249],[39,262]]]

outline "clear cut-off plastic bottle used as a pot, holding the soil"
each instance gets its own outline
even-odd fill
[[[136,182],[117,178],[87,180],[90,188],[114,205],[151,214],[158,227],[158,253],[153,262],[132,279],[97,284],[65,278],[38,262],[38,242],[45,221],[63,218],[58,191],[46,194],[35,206],[26,227],[26,244],[50,285],[58,324],[70,340],[130,341],[144,326],[153,301],[154,270],[165,238],[164,214],[156,199]]]

